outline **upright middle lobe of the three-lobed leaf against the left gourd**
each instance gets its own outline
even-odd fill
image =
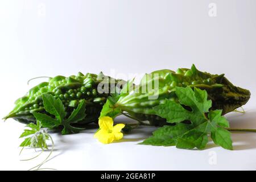
[[[55,117],[59,121],[62,121],[66,113],[64,110],[64,105],[60,100],[60,98],[55,99],[50,94],[43,94],[42,98],[43,98],[44,109],[46,109],[46,111],[49,114],[55,115]]]

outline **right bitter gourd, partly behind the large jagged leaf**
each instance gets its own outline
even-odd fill
[[[158,76],[154,77],[154,73]],[[156,79],[159,83],[157,90],[154,88]],[[143,93],[143,86],[147,88],[145,85],[152,85],[152,88]],[[166,99],[177,101],[176,86],[190,86],[207,90],[208,97],[213,103],[212,109],[222,109],[222,114],[245,105],[250,98],[249,90],[234,86],[224,74],[212,75],[201,72],[196,69],[195,65],[192,65],[191,69],[179,68],[176,72],[163,69],[152,72],[149,77],[146,74],[142,78],[141,84],[135,86],[134,90],[140,92],[133,90],[121,94],[114,107],[121,108],[122,111],[141,121],[150,121],[152,125],[164,125],[166,124],[165,119],[156,116],[152,108],[162,104]],[[155,99],[154,96],[156,96]]]

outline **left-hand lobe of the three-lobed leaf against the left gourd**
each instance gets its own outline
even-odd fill
[[[32,113],[37,121],[41,122],[41,125],[43,127],[47,127],[49,129],[52,129],[53,127],[57,127],[61,125],[61,122],[57,119],[53,119],[47,114],[42,113]]]

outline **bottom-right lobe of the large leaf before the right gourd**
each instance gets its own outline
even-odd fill
[[[214,127],[210,137],[215,144],[218,144],[228,150],[233,150],[232,139],[228,130],[222,129],[220,127]]]

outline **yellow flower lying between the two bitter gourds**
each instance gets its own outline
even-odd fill
[[[98,125],[100,129],[94,134],[94,138],[97,138],[101,143],[107,144],[123,138],[121,130],[125,127],[124,124],[113,126],[112,118],[102,117],[98,120]]]

